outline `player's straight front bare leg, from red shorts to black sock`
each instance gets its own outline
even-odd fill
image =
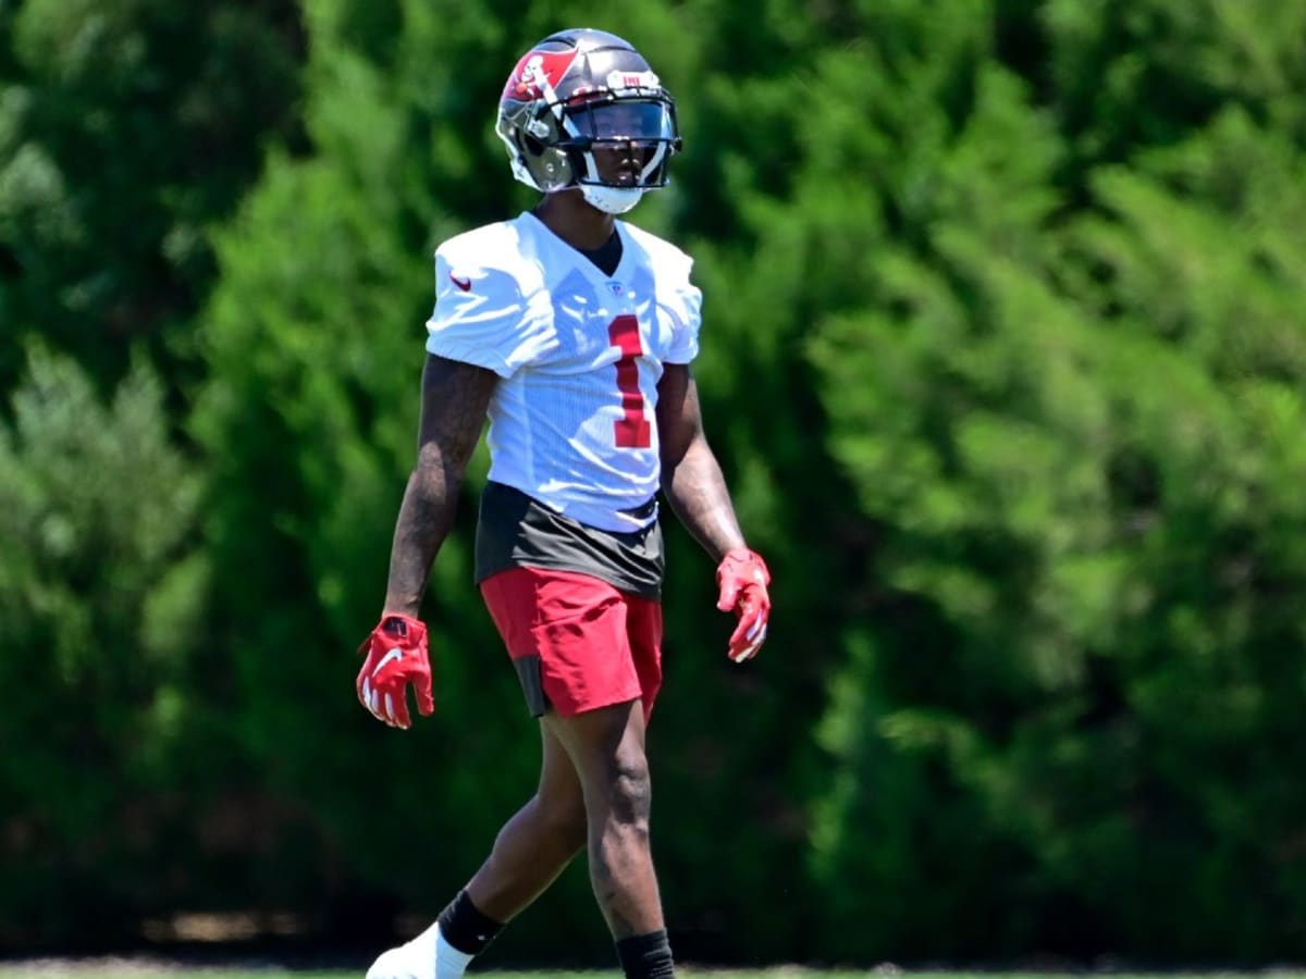
[[[585,800],[589,876],[618,941],[663,928],[662,902],[649,848],[650,782],[640,702],[563,718],[551,731],[571,757]]]

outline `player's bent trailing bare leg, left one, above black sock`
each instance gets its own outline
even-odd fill
[[[539,897],[585,846],[580,779],[556,735],[541,723],[539,788],[504,824],[490,856],[468,884],[477,909],[509,922]]]

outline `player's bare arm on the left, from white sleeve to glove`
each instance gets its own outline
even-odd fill
[[[385,615],[418,616],[435,555],[453,523],[458,489],[499,377],[428,355],[422,371],[417,465],[394,523]]]

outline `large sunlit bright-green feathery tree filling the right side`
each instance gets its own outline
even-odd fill
[[[885,895],[835,902],[850,957],[1298,948],[1299,64],[1199,7],[1047,4],[1050,114],[976,77],[872,311],[819,325],[882,535],[814,808],[819,878]]]

